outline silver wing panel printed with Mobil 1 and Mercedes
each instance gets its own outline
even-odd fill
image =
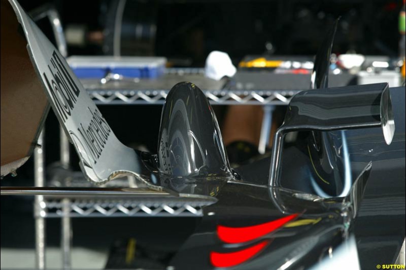
[[[27,40],[33,66],[51,106],[75,145],[85,176],[104,182],[141,171],[137,153],[114,135],[75,74],[48,38],[15,0],[10,0]]]

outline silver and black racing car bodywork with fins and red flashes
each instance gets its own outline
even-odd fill
[[[322,89],[327,71],[319,72],[317,64],[315,89],[301,91],[291,99],[285,122],[275,136],[272,158],[234,170],[205,94],[192,83],[179,83],[165,99],[157,153],[135,151],[114,135],[65,59],[18,2],[10,3],[22,26],[32,64],[66,136],[75,146],[85,178],[104,183],[133,175],[143,188],[2,187],[2,195],[127,195],[149,200],[172,198],[178,203],[182,199],[210,202],[204,206],[195,232],[165,265],[175,269],[322,269],[331,264],[359,269],[368,258],[362,257],[365,250],[357,247],[356,241],[368,239],[357,238],[355,221],[361,217],[362,222],[365,216],[365,223],[369,223],[365,225],[366,236],[375,237],[384,231],[393,237],[393,243],[382,252],[384,258],[398,253],[394,246],[403,241],[405,227],[404,87],[389,89],[384,83]],[[327,46],[331,48],[328,42]],[[395,111],[391,94],[396,96]],[[400,128],[399,119],[403,121]],[[284,149],[284,134],[333,130],[348,131],[346,143],[337,137],[327,148],[334,150],[336,157],[347,149],[344,155],[351,157],[351,173],[356,179],[348,190],[321,196],[295,185],[286,188],[287,180],[310,185],[311,179],[321,175],[317,171],[320,159],[312,159],[310,149],[309,154],[300,145]],[[371,147],[370,136],[375,140],[376,156],[362,150],[365,145]],[[330,143],[325,138],[323,143]],[[388,154],[394,151],[393,144],[397,152]],[[294,162],[286,164],[286,159]],[[382,175],[389,168],[382,168],[385,161],[392,163],[391,179]],[[341,181],[338,177],[328,179],[336,186]],[[368,191],[371,181],[374,189]],[[403,198],[396,209],[383,204],[379,212],[400,220],[398,225],[371,227],[371,220],[379,217],[363,210],[362,203],[377,206],[377,198]]]

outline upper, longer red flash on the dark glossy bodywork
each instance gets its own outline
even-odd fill
[[[273,232],[274,230],[282,227],[287,222],[297,217],[297,215],[298,214],[292,214],[286,217],[279,218],[277,220],[249,227],[232,228],[218,225],[217,235],[219,236],[220,240],[225,243],[243,243]]]

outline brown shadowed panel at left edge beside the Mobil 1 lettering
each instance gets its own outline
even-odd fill
[[[22,27],[11,5],[1,1],[1,176],[32,155],[49,105],[33,68]]]

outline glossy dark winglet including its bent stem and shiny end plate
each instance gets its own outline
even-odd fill
[[[269,185],[280,186],[279,172],[286,133],[368,127],[382,127],[386,143],[392,142],[395,123],[387,83],[299,92],[291,99],[285,121],[275,134]]]

